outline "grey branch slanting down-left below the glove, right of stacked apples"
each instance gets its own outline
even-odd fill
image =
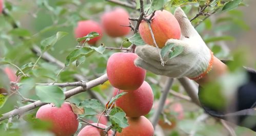
[[[173,78],[168,78],[168,80],[166,81],[165,83],[165,86],[163,88],[163,93],[161,94],[161,97],[160,97],[160,100],[159,100],[159,105],[156,109],[156,111],[154,112],[154,115],[152,117],[152,125],[153,127],[156,126],[156,124],[158,123],[159,121],[159,117],[164,109],[164,105],[165,105],[165,100],[168,96],[168,93],[169,93],[169,90],[170,90],[170,87],[172,86],[172,83],[173,83]]]

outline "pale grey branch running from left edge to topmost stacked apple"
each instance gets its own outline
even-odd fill
[[[64,93],[65,97],[66,97],[65,99],[70,98],[71,96],[74,96],[76,94],[85,92],[86,90],[88,90],[88,89],[90,89],[94,86],[103,84],[107,80],[108,80],[107,74],[104,74],[103,76],[101,76],[99,78],[96,78],[94,80],[91,80],[91,81],[87,82],[86,87],[79,86],[79,87],[75,87],[73,89],[70,89],[70,90],[68,90],[67,92]],[[24,114],[24,112],[32,110],[36,107],[43,106],[45,104],[47,104],[47,103],[44,103],[44,102],[41,102],[40,100],[38,100],[38,101],[30,103],[28,105],[13,109],[13,110],[3,114],[3,116],[0,118],[0,121],[3,121],[5,119],[9,118],[9,116],[13,116],[13,117],[21,116],[22,114]]]

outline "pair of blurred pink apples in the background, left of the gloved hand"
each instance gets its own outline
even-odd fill
[[[97,32],[99,37],[88,41],[90,45],[96,44],[102,38],[103,31],[110,37],[122,37],[130,32],[129,13],[122,8],[116,8],[112,11],[105,12],[101,17],[101,24],[94,20],[81,20],[77,22],[74,29],[76,38],[84,37],[90,32]]]

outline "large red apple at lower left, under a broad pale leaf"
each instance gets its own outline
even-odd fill
[[[78,128],[77,115],[74,114],[69,103],[64,102],[61,107],[53,104],[41,106],[36,112],[36,118],[52,123],[51,131],[56,136],[71,136]]]

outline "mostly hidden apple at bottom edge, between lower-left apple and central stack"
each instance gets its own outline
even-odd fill
[[[92,123],[92,125],[94,126],[99,126],[101,128],[106,128],[107,126],[99,123]],[[84,127],[77,136],[105,136],[104,135],[104,131],[102,129],[96,128],[94,126],[91,125],[87,125],[86,127]],[[113,133],[112,130],[108,131],[108,135],[111,135]]]

